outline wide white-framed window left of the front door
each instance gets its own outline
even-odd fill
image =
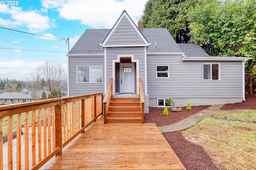
[[[102,83],[102,66],[77,66],[76,82]]]

